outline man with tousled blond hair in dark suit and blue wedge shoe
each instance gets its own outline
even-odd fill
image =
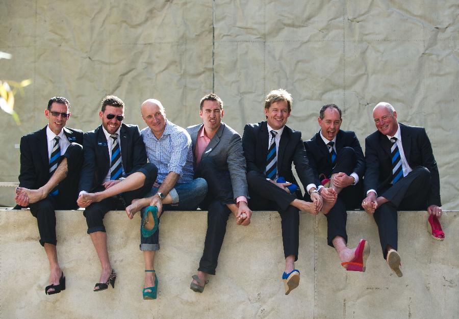
[[[299,271],[295,269],[295,261],[298,259],[298,210],[315,215],[322,209],[322,197],[317,191],[319,180],[309,165],[301,132],[285,125],[292,110],[291,105],[292,97],[287,91],[271,91],[265,100],[267,120],[245,125],[242,136],[247,163],[249,206],[253,210],[276,209],[281,215],[286,295],[299,284]],[[312,203],[301,199],[299,189],[291,194],[288,187],[292,183],[276,182],[278,177],[284,177],[297,184],[292,173],[292,163],[295,164],[301,183],[311,195]]]

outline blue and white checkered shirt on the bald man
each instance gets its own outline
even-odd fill
[[[166,120],[163,135],[157,139],[149,127],[140,131],[145,143],[148,161],[158,168],[158,183],[162,183],[169,172],[180,175],[177,183],[193,180],[193,150],[188,132]]]

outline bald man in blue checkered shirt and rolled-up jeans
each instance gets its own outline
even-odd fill
[[[148,127],[140,132],[148,161],[158,168],[158,177],[146,198],[134,200],[126,207],[132,218],[148,205],[158,207],[158,218],[164,210],[195,210],[207,193],[203,178],[193,179],[193,153],[188,132],[166,119],[164,107],[156,99],[142,103],[140,111]],[[149,237],[141,235],[140,250],[145,270],[153,270],[155,251],[159,250],[159,229]],[[145,272],[145,287],[155,286],[155,273]],[[147,291],[148,292],[148,291]]]

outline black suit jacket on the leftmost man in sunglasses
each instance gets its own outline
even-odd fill
[[[21,138],[19,186],[36,190],[49,180],[47,125]],[[83,131],[64,127],[70,143],[83,144]]]

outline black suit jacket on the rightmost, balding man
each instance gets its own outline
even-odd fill
[[[440,177],[432,146],[424,127],[399,123],[403,152],[412,169],[423,166],[430,171],[431,189],[428,205],[441,206]],[[365,192],[375,190],[378,194],[390,187],[392,180],[391,142],[387,136],[375,131],[365,139]]]

